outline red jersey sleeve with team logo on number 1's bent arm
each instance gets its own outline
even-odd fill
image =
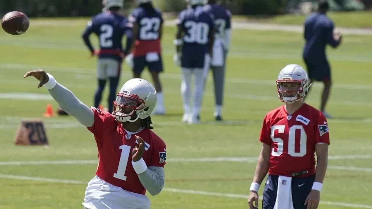
[[[153,138],[154,149],[151,152],[150,162],[147,166],[164,167],[167,160],[167,146],[163,139],[155,134],[151,134]]]

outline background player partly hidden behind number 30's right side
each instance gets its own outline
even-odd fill
[[[217,4],[217,0],[209,0],[208,6],[215,18],[215,39],[211,60],[216,102],[214,117],[216,120],[222,120],[226,55],[230,48],[231,37],[231,13],[225,7]]]

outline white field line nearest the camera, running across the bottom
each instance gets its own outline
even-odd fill
[[[44,181],[44,182],[50,182],[50,183],[64,183],[64,184],[87,184],[86,181],[78,181],[78,180],[49,179],[49,178],[40,178],[40,177],[31,177],[31,176],[16,176],[16,175],[3,175],[3,174],[0,174],[0,178],[3,178],[3,179],[17,179],[17,180],[31,180],[31,181]],[[174,192],[174,193],[184,193],[184,194],[201,194],[201,195],[207,195],[207,196],[231,197],[231,198],[238,198],[238,199],[247,199],[248,198],[248,196],[245,195],[245,194],[206,192],[206,191],[174,189],[174,188],[163,188],[163,191]],[[260,199],[262,199],[262,197],[260,197]],[[320,204],[322,204],[322,205],[333,205],[333,206],[343,206],[343,207],[349,207],[349,208],[372,208],[372,205],[358,205],[358,204],[343,203],[343,202],[321,201]]]

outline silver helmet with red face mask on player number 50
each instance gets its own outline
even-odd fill
[[[280,83],[289,83],[289,82],[299,83],[300,84],[299,89],[298,90],[281,90],[280,89],[280,85],[279,85]],[[304,70],[304,68],[296,64],[290,64],[290,65],[286,65],[280,71],[278,75],[278,80],[276,80],[276,86],[278,88],[278,96],[282,102],[294,103],[306,96],[311,84],[309,83],[309,77],[306,71]],[[295,96],[292,96],[292,97],[283,96],[283,93],[292,92],[292,91],[297,91]]]

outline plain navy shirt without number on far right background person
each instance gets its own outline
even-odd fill
[[[303,57],[307,60],[326,60],[325,45],[336,47],[340,41],[333,38],[333,22],[324,14],[313,13],[305,20]]]

